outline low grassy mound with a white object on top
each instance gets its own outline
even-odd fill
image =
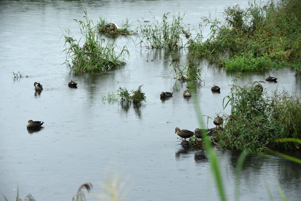
[[[134,33],[134,31],[130,29],[132,25],[129,24],[128,19],[126,19],[126,23],[122,23],[123,25],[121,26],[121,28],[116,27],[114,24],[109,24],[111,23],[105,20],[105,18],[99,17],[96,29],[99,33],[109,36],[132,35]]]

